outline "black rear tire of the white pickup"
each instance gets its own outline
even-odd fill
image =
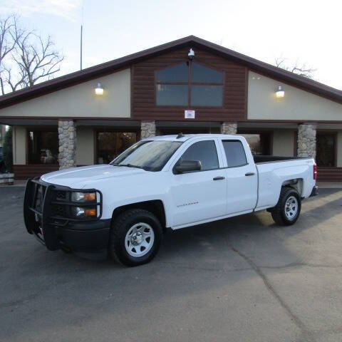
[[[286,202],[288,201],[288,199],[290,199],[290,197],[294,197],[296,199],[296,201],[293,201],[294,205],[295,202],[297,202],[297,210],[292,217],[289,217],[291,216],[291,213],[288,210],[286,210]],[[289,207],[287,207],[287,209],[289,209]],[[288,212],[288,214],[286,214],[286,211]],[[296,192],[296,190],[294,190],[293,188],[282,187],[279,196],[279,201],[276,204],[276,206],[270,210],[270,212],[276,224],[291,226],[291,224],[294,224],[296,222],[296,220],[299,218],[299,214],[301,213],[301,197],[299,196],[298,192]]]

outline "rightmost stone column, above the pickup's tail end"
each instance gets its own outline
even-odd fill
[[[309,123],[299,125],[297,142],[299,157],[316,158],[316,125]]]

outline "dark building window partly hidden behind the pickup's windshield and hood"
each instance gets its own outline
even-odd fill
[[[97,132],[96,162],[98,164],[109,164],[137,140],[137,133],[133,132]]]

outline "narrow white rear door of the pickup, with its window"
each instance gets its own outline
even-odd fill
[[[220,142],[227,178],[226,214],[250,211],[257,204],[258,192],[252,153],[245,140],[220,139]]]

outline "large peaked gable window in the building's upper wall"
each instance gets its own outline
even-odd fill
[[[180,63],[157,71],[156,83],[157,105],[223,105],[223,72],[197,62]]]

